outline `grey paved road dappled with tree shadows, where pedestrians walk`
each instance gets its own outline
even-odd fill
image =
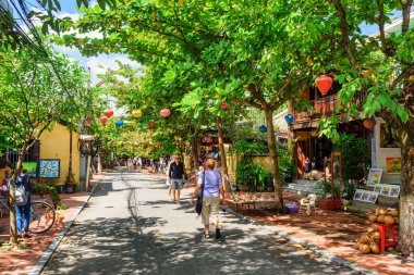
[[[228,213],[222,240],[205,240],[193,207],[167,200],[163,183],[106,175],[42,274],[357,274]]]

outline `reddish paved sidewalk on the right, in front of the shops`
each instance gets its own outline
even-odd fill
[[[284,193],[285,201],[299,202],[301,196]],[[227,204],[227,207],[234,207]],[[243,215],[273,226],[278,232],[288,233],[291,237],[305,243],[316,246],[334,255],[378,274],[414,274],[414,261],[392,253],[363,254],[354,248],[356,239],[369,226],[366,217],[344,211],[316,210],[307,216],[305,211],[287,215],[277,215],[256,207],[243,211]]]

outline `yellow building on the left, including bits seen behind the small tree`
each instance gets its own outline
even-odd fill
[[[15,155],[12,153],[7,154],[9,161],[14,162]],[[44,132],[40,136],[38,145],[36,145],[27,154],[27,162],[37,162],[39,160],[59,160],[59,177],[57,178],[40,178],[41,183],[48,184],[63,184],[68,175],[70,158],[70,132],[60,124],[56,123],[52,130]],[[80,150],[78,150],[78,134],[72,132],[72,173],[75,183],[80,182]],[[38,164],[39,165],[39,164]],[[4,172],[10,168],[0,168],[0,175],[3,176]],[[38,182],[35,180],[35,182]]]

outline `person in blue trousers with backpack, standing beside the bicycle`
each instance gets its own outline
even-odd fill
[[[15,186],[19,187],[21,185],[24,186],[25,191],[27,192],[27,202],[26,204],[21,205],[21,207],[15,205],[17,234],[21,235],[22,238],[23,237],[31,238],[28,224],[31,220],[31,200],[32,200],[33,185],[32,185],[29,176],[27,175],[27,170],[23,170],[20,176],[16,178]],[[24,230],[22,230],[22,222],[24,224]]]

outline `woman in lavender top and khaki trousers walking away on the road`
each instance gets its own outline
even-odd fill
[[[193,204],[193,200],[197,198],[198,191],[202,190],[204,183],[202,222],[204,224],[204,237],[206,239],[210,238],[210,217],[215,220],[216,239],[221,238],[220,203],[224,199],[224,189],[220,173],[214,171],[215,164],[215,160],[207,160],[206,171],[200,173],[191,200],[191,203]]]

